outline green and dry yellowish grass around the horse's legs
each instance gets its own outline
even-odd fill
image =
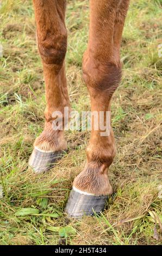
[[[114,194],[101,216],[70,221],[64,206],[85,165],[89,131],[67,131],[68,154],[51,172],[28,172],[33,142],[43,129],[42,64],[30,0],[5,0],[0,9],[1,245],[159,245],[162,229],[161,0],[132,0],[124,27],[123,78],[113,96],[117,155],[109,170]],[[90,110],[82,80],[89,3],[68,1],[66,70],[73,109]]]

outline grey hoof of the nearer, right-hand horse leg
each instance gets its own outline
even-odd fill
[[[105,209],[108,196],[95,196],[88,193],[79,193],[72,189],[65,207],[67,217],[82,218],[84,215],[99,214]]]

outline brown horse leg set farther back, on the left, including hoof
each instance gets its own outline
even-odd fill
[[[59,153],[67,147],[63,130],[53,130],[53,113],[64,115],[70,106],[65,75],[67,32],[65,27],[66,0],[33,0],[38,48],[46,84],[45,128],[34,142],[29,166],[36,173],[51,168]]]

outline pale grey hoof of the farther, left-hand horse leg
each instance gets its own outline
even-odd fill
[[[34,148],[29,159],[29,167],[31,167],[36,174],[45,172],[53,167],[53,164],[61,158],[63,153],[61,151],[49,152]]]

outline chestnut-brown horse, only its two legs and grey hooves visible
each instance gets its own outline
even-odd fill
[[[71,112],[68,97],[65,55],[67,30],[66,0],[33,0],[36,38],[42,59],[46,87],[45,127],[35,139],[29,166],[36,174],[53,167],[53,163],[67,149],[64,136],[66,117]],[[111,98],[121,80],[120,47],[129,0],[90,0],[90,28],[88,47],[83,56],[83,78],[91,99],[91,111],[110,112]],[[53,121],[61,113],[63,129],[53,129]],[[82,218],[103,211],[113,193],[108,169],[116,154],[113,130],[101,136],[92,119],[86,164],[73,181],[65,206],[68,217]]]

